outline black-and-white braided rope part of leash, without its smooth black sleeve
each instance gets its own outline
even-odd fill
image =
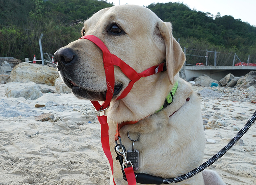
[[[237,133],[237,135],[233,139],[231,139],[227,143],[227,145],[225,147],[223,147],[215,156],[213,156],[208,161],[204,162],[198,168],[191,170],[190,172],[188,172],[184,175],[181,175],[181,176],[175,177],[175,178],[170,178],[170,179],[163,179],[162,183],[163,184],[171,184],[171,183],[180,182],[182,180],[187,180],[187,179],[191,178],[192,176],[200,173],[207,167],[211,166],[216,160],[220,159],[229,149],[231,149],[236,144],[236,142],[239,141],[239,139],[241,139],[241,137],[248,131],[248,129],[254,123],[255,120],[256,120],[256,110],[253,113],[253,115],[250,117],[250,119],[246,122],[245,126]]]

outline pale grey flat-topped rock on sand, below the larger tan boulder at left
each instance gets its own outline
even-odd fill
[[[38,86],[34,82],[19,83],[10,82],[5,85],[5,92],[7,98],[31,98],[37,99],[43,96]]]

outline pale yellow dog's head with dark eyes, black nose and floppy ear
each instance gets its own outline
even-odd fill
[[[169,82],[185,61],[185,55],[172,36],[170,23],[160,20],[151,10],[136,5],[102,9],[84,23],[82,36],[97,36],[109,51],[138,73],[166,59]],[[107,82],[102,51],[87,39],[78,39],[54,54],[65,84],[79,98],[104,101]],[[113,98],[128,86],[130,79],[114,67]]]

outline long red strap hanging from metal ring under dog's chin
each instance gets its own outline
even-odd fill
[[[98,120],[100,123],[100,129],[101,129],[101,145],[105,155],[109,160],[109,164],[110,164],[112,175],[113,175],[113,182],[114,182],[114,185],[116,185],[114,180],[113,158],[112,158],[112,155],[110,152],[110,146],[109,146],[109,125],[107,123],[107,116],[104,116],[104,115],[98,116]]]

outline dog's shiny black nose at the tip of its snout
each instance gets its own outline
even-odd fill
[[[75,57],[75,53],[70,48],[61,48],[54,53],[54,60],[59,65],[67,65],[71,63],[72,59]]]

